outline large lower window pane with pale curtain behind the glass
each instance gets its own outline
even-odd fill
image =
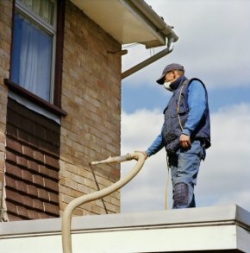
[[[11,80],[50,100],[53,36],[15,14]]]

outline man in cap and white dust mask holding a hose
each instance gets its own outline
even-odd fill
[[[201,80],[188,80],[184,67],[176,63],[165,67],[157,83],[173,95],[163,111],[161,133],[144,155],[150,157],[165,147],[172,174],[173,208],[195,207],[200,161],[211,145],[207,90]]]

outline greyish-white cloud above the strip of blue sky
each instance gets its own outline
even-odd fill
[[[166,64],[182,63],[187,76],[197,76],[210,87],[249,85],[250,1],[246,0],[147,0],[175,27],[179,41],[174,51],[129,77],[131,85],[154,83]],[[141,48],[141,49],[140,49]],[[143,46],[123,58],[124,70],[150,56]],[[136,80],[135,80],[136,78]]]

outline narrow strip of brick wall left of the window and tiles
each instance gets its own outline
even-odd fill
[[[11,17],[12,1],[0,0],[0,208],[3,194],[3,172],[5,157],[5,129],[7,110],[7,87],[4,78],[9,76],[10,47],[11,47]],[[1,221],[1,217],[0,217]]]

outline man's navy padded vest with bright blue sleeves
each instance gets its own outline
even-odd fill
[[[206,148],[211,145],[208,97],[203,82],[197,78],[188,80],[182,76],[171,84],[171,88],[173,96],[164,109],[164,124],[161,133],[146,151],[149,156],[164,146],[167,151],[176,151],[182,133],[190,136],[192,140],[204,140]]]

